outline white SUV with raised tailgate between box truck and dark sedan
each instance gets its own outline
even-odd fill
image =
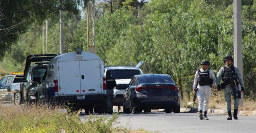
[[[134,75],[143,74],[139,68],[143,63],[140,61],[136,66],[104,66],[104,75],[106,76],[107,70],[110,70],[117,84],[114,87],[113,105],[123,106],[123,93]]]

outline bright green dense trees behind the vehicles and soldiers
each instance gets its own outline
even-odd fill
[[[233,0],[152,0],[132,4],[98,3],[96,49],[105,65],[136,65],[145,73],[170,74],[182,97],[191,95],[194,72],[203,59],[217,73],[226,53],[233,55]],[[86,19],[65,16],[65,52],[87,50]],[[256,99],[256,3],[242,2],[243,77],[246,97]],[[20,36],[0,66],[22,70],[24,57],[42,51],[42,28],[33,25]],[[24,47],[25,46],[25,47]],[[22,51],[19,52],[19,51]],[[59,53],[59,24],[49,24],[48,53]],[[23,59],[23,60],[22,60]]]

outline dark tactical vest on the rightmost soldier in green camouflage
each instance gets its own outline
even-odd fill
[[[231,66],[231,68],[228,68],[228,67],[224,66],[224,73],[222,74],[222,81],[225,84],[230,84],[231,83],[231,79],[232,79],[231,76],[235,80],[236,84],[238,84],[235,67]]]

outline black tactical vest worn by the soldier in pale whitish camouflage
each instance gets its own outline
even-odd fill
[[[200,69],[198,70],[198,83],[200,86],[212,85],[213,80],[210,78],[210,70],[203,72]]]

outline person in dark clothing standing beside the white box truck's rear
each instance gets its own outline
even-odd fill
[[[113,113],[113,98],[114,98],[114,90],[113,88],[116,86],[116,80],[111,76],[111,72],[107,70],[106,72],[106,81],[107,81],[107,106],[108,106],[108,113]]]

